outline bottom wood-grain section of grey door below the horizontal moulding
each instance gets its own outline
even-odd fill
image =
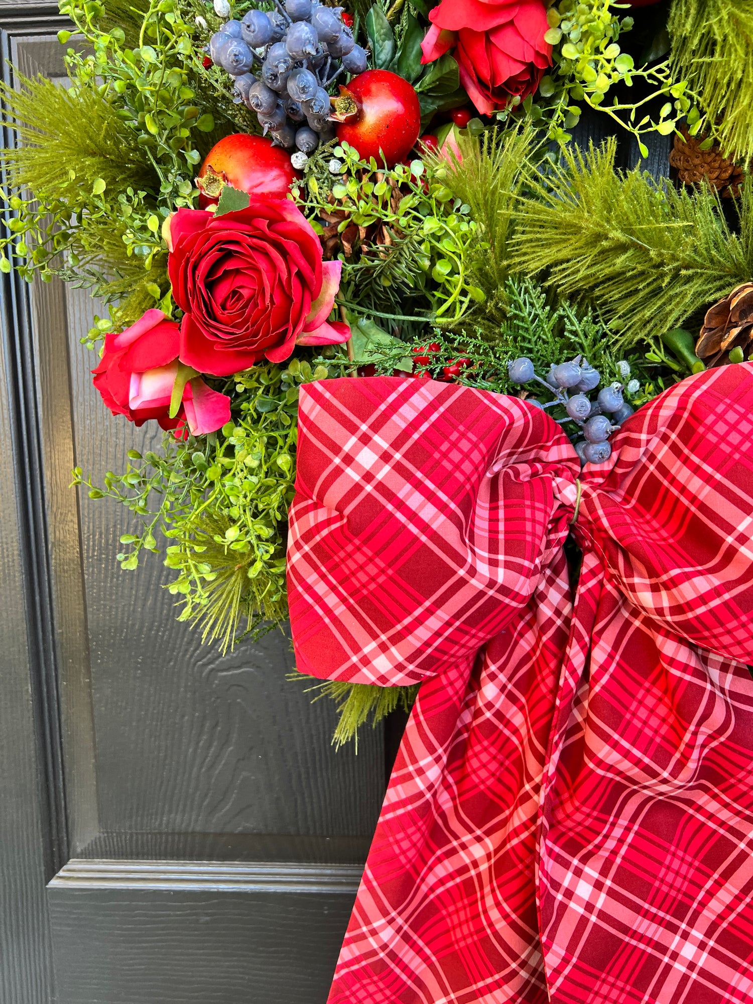
[[[58,1004],[324,1004],[350,893],[49,890]]]

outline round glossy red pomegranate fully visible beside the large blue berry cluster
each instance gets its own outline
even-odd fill
[[[408,156],[421,132],[418,94],[387,69],[367,69],[340,87],[334,112],[340,143],[349,144],[361,160],[372,157],[389,168]]]

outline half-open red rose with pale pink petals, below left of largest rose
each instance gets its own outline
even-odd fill
[[[170,403],[179,379],[179,327],[162,310],[148,310],[119,334],[104,337],[104,354],[94,387],[113,415],[143,426],[157,419],[163,429],[188,424],[194,436],[213,433],[230,421],[230,398],[218,394],[191,370],[183,368],[181,406],[171,419]],[[189,380],[186,378],[189,376]]]

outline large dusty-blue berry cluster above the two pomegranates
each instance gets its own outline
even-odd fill
[[[303,167],[334,136],[329,87],[343,72],[362,73],[366,52],[342,23],[342,7],[319,0],[274,3],[270,13],[250,10],[241,21],[226,21],[208,51],[234,77],[236,102],[256,112],[273,143],[297,151],[293,157],[301,163],[294,167]]]

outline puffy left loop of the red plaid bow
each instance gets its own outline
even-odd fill
[[[307,385],[288,551],[298,669],[398,685],[475,653],[562,543],[571,512],[553,484],[578,469],[517,399],[392,376]]]

